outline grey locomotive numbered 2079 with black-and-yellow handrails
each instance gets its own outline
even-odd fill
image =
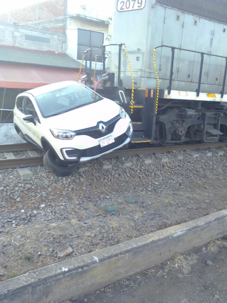
[[[114,0],[113,6],[95,90],[130,115],[131,143],[225,140],[227,1]],[[94,88],[91,65],[85,72]]]

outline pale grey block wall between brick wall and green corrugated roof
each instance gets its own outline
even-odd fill
[[[35,42],[25,39],[25,35],[50,38],[50,43]],[[39,30],[35,27],[0,23],[0,45],[18,46],[41,51],[66,52],[67,39],[62,33]]]

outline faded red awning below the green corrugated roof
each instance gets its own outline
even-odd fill
[[[0,87],[35,88],[61,81],[77,81],[78,72],[68,68],[0,63]],[[81,76],[80,76],[81,78]]]

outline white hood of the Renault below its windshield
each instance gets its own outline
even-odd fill
[[[109,99],[102,99],[83,107],[79,107],[61,115],[46,118],[50,128],[71,131],[96,126],[97,122],[107,122],[119,114],[119,105]]]

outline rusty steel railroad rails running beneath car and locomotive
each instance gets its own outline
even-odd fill
[[[196,150],[196,149],[218,148],[218,147],[226,147],[226,146],[227,146],[227,142],[215,142],[215,143],[158,146],[158,147],[150,147],[150,148],[117,150],[102,156],[101,159],[129,157],[135,155],[151,155],[154,153],[160,154],[169,151]],[[0,145],[0,152],[7,152],[7,151],[13,152],[13,151],[34,150],[34,149],[35,149],[34,145],[30,143]],[[0,159],[0,169],[22,168],[22,167],[36,166],[36,165],[43,165],[42,156]]]

